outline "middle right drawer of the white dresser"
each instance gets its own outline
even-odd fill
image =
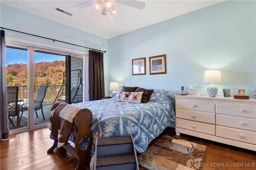
[[[216,125],[256,131],[256,119],[216,114]]]

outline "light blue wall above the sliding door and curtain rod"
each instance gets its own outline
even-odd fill
[[[73,27],[34,15],[32,13],[0,4],[0,25],[9,29],[14,29],[26,33],[49,37],[60,41],[66,41],[77,45],[82,45],[102,51],[108,51],[108,39],[75,29]],[[38,43],[65,47],[79,51],[88,52],[88,49],[66,45],[64,43],[53,43],[50,40],[24,35],[6,30],[6,37],[15,37]],[[104,53],[104,74],[105,92],[108,93],[108,53]]]

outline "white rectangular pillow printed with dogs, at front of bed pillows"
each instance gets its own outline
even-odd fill
[[[116,102],[141,103],[143,92],[120,92],[117,95]]]

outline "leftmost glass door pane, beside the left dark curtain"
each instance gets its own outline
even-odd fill
[[[6,85],[9,129],[28,127],[28,47],[6,47]]]

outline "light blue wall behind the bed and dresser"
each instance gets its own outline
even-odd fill
[[[225,1],[108,40],[108,79],[130,86],[181,86],[206,94],[204,70],[222,71],[222,89],[256,88],[255,1]],[[149,75],[148,57],[166,54],[167,74]],[[146,75],[132,76],[132,59],[146,57]]]

